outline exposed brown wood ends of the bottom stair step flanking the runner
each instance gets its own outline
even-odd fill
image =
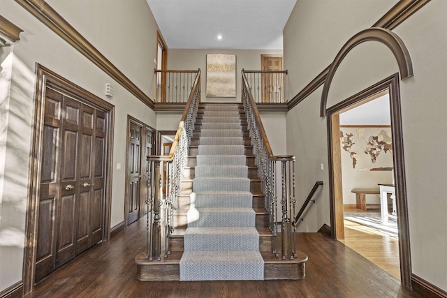
[[[264,280],[297,280],[305,278],[307,255],[298,251],[293,260],[275,258],[271,252],[261,252],[264,259]],[[149,261],[145,253],[135,256],[137,278],[140,281],[179,281],[182,252],[172,252],[167,259]]]

